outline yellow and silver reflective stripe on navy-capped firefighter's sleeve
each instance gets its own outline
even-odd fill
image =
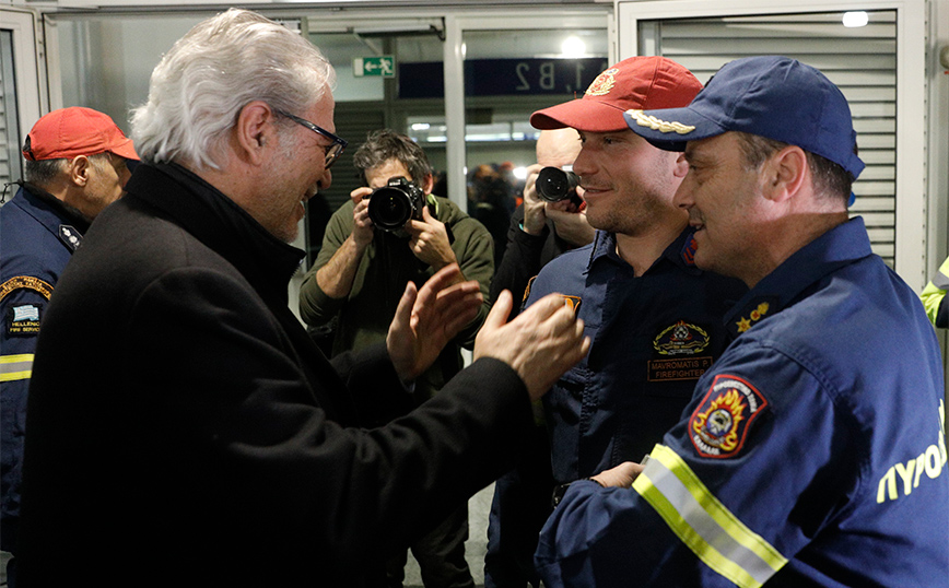
[[[741,588],[760,587],[787,563],[668,447],[656,445],[633,489],[705,565]]]

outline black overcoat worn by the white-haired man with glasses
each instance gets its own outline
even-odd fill
[[[361,586],[507,469],[523,381],[480,360],[420,409],[385,350],[328,362],[302,252],[183,167],[141,165],[43,317],[21,587]]]

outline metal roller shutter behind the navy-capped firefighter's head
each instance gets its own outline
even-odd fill
[[[640,22],[640,55],[682,63],[702,83],[724,63],[753,55],[785,55],[820,69],[851,104],[860,158],[852,215],[867,224],[874,251],[895,256],[897,15],[869,12],[847,28],[842,13],[781,14]]]

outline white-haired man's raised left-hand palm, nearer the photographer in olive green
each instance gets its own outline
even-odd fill
[[[415,379],[478,314],[483,297],[477,281],[458,282],[461,270],[453,263],[415,290],[406,284],[386,348],[402,381]],[[454,283],[458,282],[458,283]]]

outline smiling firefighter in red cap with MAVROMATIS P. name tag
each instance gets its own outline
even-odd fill
[[[530,117],[538,129],[579,132],[573,170],[597,230],[590,245],[547,264],[527,298],[564,294],[593,341],[543,399],[554,501],[576,480],[641,459],[727,344],[722,316],[745,286],[694,266],[688,214],[672,203],[688,165],[623,119],[631,108],[684,106],[701,89],[675,61],[634,57],[600,73],[582,98]]]

